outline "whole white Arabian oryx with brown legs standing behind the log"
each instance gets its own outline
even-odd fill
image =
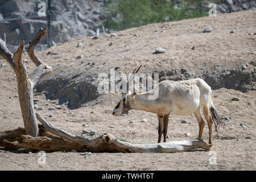
[[[141,68],[141,67],[139,67]],[[134,69],[129,82],[133,80],[134,74],[139,71]],[[129,87],[129,82],[128,86]],[[158,98],[148,100],[148,96],[158,89]],[[129,88],[127,88],[129,90]],[[200,110],[203,111],[209,128],[209,144],[212,145],[212,124],[216,127],[222,122],[211,99],[212,90],[201,78],[183,81],[162,81],[154,89],[146,93],[122,94],[121,100],[115,106],[113,115],[119,115],[130,109],[144,110],[158,115],[158,143],[161,142],[162,134],[166,142],[168,118],[170,114],[189,115],[194,113],[199,123],[199,135],[201,138],[204,130],[204,119]]]

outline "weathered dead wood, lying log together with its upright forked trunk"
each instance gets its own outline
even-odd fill
[[[183,152],[195,148],[210,149],[211,145],[199,138],[156,144],[131,144],[118,140],[112,134],[103,134],[95,139],[89,139],[69,134],[52,126],[39,113],[35,113],[32,99],[33,88],[36,83],[40,78],[52,72],[51,67],[44,64],[35,55],[35,47],[40,39],[46,35],[46,31],[46,28],[40,28],[38,34],[26,48],[28,56],[37,67],[30,76],[28,76],[26,65],[22,61],[24,41],[13,55],[0,38],[0,54],[16,73],[19,102],[24,122],[24,129],[18,128],[0,132],[0,146],[11,150],[26,148],[27,151],[46,152],[71,151],[73,149],[91,152]],[[36,119],[42,125],[38,125]]]

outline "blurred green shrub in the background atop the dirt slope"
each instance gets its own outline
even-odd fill
[[[171,0],[109,0],[105,5],[107,20],[105,27],[119,31],[139,27],[148,23],[177,21],[208,15],[209,9],[202,6],[208,1]],[[193,10],[188,7],[193,7]]]

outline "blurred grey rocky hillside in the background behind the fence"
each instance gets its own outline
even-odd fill
[[[33,18],[38,16],[38,4],[42,2],[47,4],[47,0],[0,0],[0,36],[5,32],[7,41],[18,45],[22,39],[28,39],[35,34],[38,28],[47,27],[45,17]],[[97,28],[105,32],[102,22],[106,15],[102,7],[106,2],[108,0],[52,1],[53,41],[63,43],[74,38],[92,36],[96,34]],[[251,0],[218,1],[217,13],[230,13],[253,7],[256,7],[256,3]],[[29,18],[16,19],[20,17]]]

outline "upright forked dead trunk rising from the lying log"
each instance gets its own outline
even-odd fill
[[[0,53],[11,65],[16,73],[17,82],[18,82],[18,94],[19,94],[19,104],[22,111],[22,117],[24,122],[24,127],[26,134],[31,135],[32,137],[39,136],[38,123],[36,121],[36,115],[34,110],[33,103],[33,88],[35,84],[42,78],[44,75],[52,72],[51,67],[48,67],[35,55],[36,44],[40,39],[46,35],[46,28],[41,28],[36,34],[35,38],[30,43],[30,46],[26,49],[31,60],[38,67],[30,76],[27,74],[26,65],[22,61],[22,51],[24,47],[24,41],[21,43],[18,50],[14,55],[7,49],[5,42],[0,38]]]

